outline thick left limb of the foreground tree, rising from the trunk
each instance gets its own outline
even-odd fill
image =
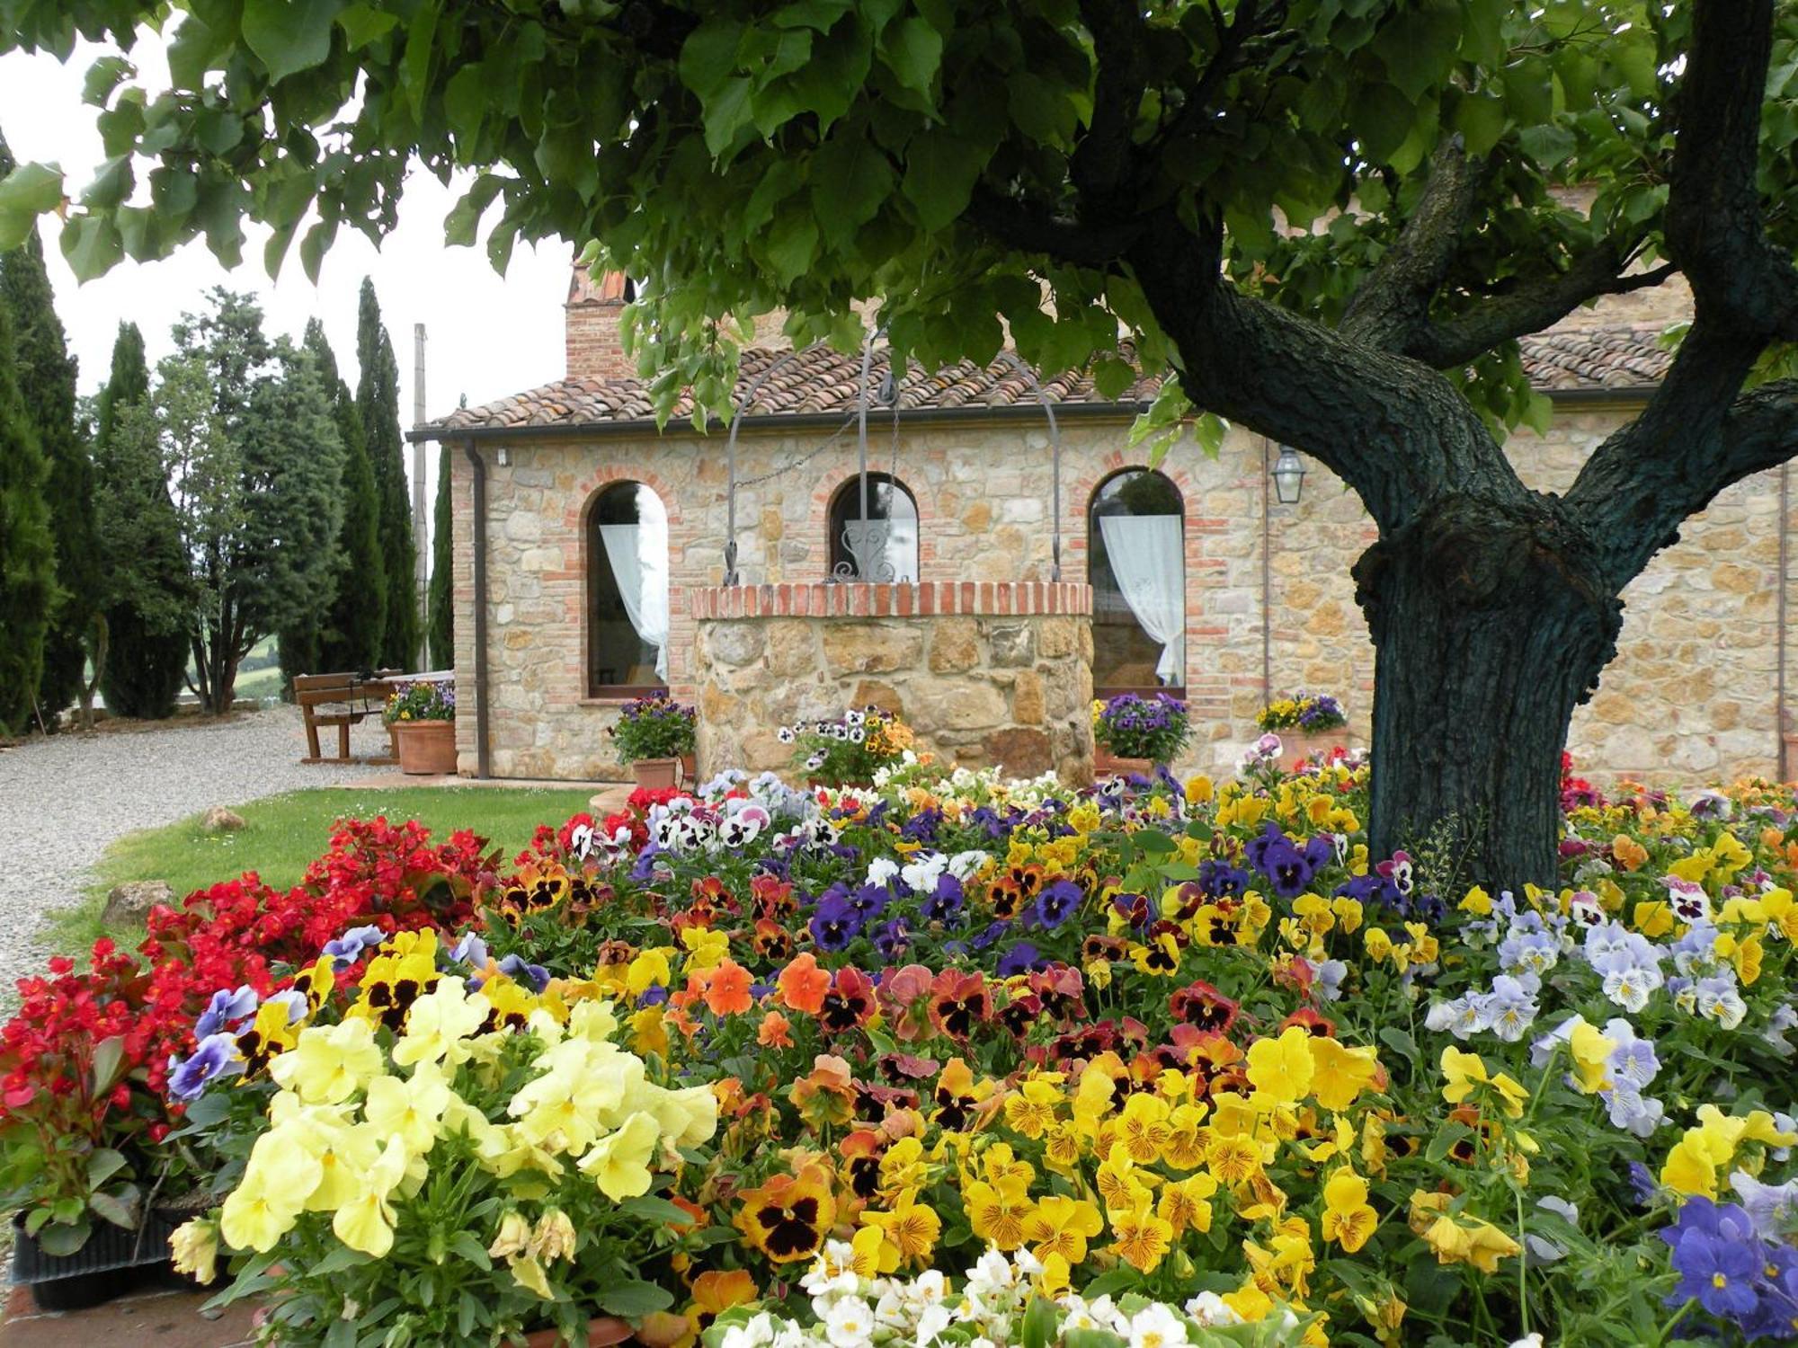
[[[1435,370],[1223,282],[1221,230],[1163,221],[1129,264],[1181,352],[1199,406],[1313,455],[1390,534],[1453,487],[1494,501],[1528,492],[1467,401]]]

